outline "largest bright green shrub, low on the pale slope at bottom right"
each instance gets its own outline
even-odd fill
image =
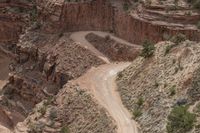
[[[176,106],[172,109],[166,127],[168,133],[186,133],[193,128],[196,116],[187,109],[187,106]]]

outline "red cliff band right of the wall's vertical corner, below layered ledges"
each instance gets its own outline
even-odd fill
[[[162,41],[164,34],[173,36],[178,33],[185,34],[190,40],[200,40],[198,30],[152,24],[123,11],[115,12],[114,24],[114,33],[117,36],[136,44],[140,44],[146,39],[152,42]]]

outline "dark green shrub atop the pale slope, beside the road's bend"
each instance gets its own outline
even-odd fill
[[[143,46],[142,53],[141,53],[142,57],[148,58],[154,54],[155,46],[152,42],[146,40],[143,42],[142,46]]]

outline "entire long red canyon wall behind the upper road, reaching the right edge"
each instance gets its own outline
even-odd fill
[[[145,39],[152,42],[164,40],[164,34],[173,36],[177,33],[183,33],[190,40],[199,41],[200,32],[197,29],[187,28],[184,25],[152,23],[137,15],[131,15],[113,7],[109,1],[97,0],[81,3],[43,1],[39,3],[40,17],[43,18],[45,29],[51,32],[58,29],[64,31],[110,31],[136,44],[141,44]],[[46,3],[51,4],[48,6]],[[48,10],[48,8],[51,8],[51,10]],[[56,10],[56,12],[52,10]],[[47,11],[49,12],[47,13]]]

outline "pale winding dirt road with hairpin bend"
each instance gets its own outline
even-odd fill
[[[97,49],[95,49],[86,39],[85,36],[90,32],[75,32],[71,38],[75,42],[94,52],[97,56],[104,57]],[[93,32],[94,33],[94,32]],[[95,32],[97,35],[107,35],[103,32]],[[113,39],[128,44],[126,41],[118,39],[111,35]],[[128,44],[130,45],[130,44]],[[122,104],[119,93],[116,89],[115,77],[119,71],[125,69],[130,63],[109,63],[101,65],[97,68],[90,69],[82,77],[78,78],[76,82],[82,87],[87,88],[100,105],[102,105],[115,120],[118,133],[138,133],[137,123],[132,119],[131,114]]]

